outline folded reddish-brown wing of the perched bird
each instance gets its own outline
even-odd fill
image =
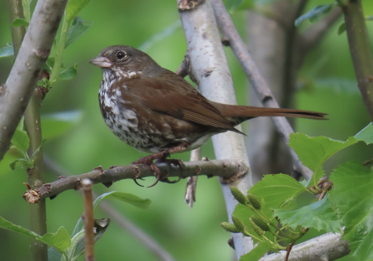
[[[165,70],[157,77],[137,78],[125,84],[150,109],[182,120],[241,133],[193,86],[172,71]]]

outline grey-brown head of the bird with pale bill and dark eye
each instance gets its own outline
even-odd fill
[[[90,63],[128,79],[155,76],[164,70],[145,52],[125,45],[105,48]]]

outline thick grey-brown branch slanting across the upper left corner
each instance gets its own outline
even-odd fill
[[[0,86],[0,160],[35,89],[67,0],[39,0],[6,82]]]

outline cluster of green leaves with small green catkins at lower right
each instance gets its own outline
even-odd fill
[[[307,227],[339,233],[345,227],[343,238],[350,243],[352,255],[361,260],[372,259],[373,170],[360,162],[344,163],[330,176],[333,190],[319,201],[315,201],[312,196],[325,193],[328,189],[323,188],[323,191],[317,184],[325,175],[322,168],[325,161],[358,141],[373,143],[372,123],[346,141],[291,134],[290,146],[304,165],[314,172],[312,186],[307,188],[305,185],[309,182],[301,183],[288,175],[264,176],[248,191],[247,200],[239,200],[232,214],[231,230],[240,230],[244,236],[251,236],[261,248],[266,244],[266,251],[269,251],[282,249],[279,242],[290,244],[297,241],[307,232]],[[242,193],[232,191],[232,194],[241,198]],[[300,196],[303,198],[301,201],[298,200]],[[260,207],[254,207],[258,203]],[[278,222],[281,226],[278,226]],[[246,227],[251,227],[256,234]],[[258,260],[260,257],[250,257],[250,260]]]

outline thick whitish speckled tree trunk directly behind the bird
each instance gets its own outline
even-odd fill
[[[202,94],[212,101],[236,104],[235,92],[227,58],[220,41],[219,32],[211,6],[211,0],[179,0],[179,15],[188,44],[191,73]],[[238,130],[241,126],[237,126]],[[248,166],[249,161],[244,146],[244,137],[228,131],[212,137],[216,159],[239,159]],[[253,185],[251,172],[237,177],[234,181],[221,182],[229,220],[237,201],[230,187],[248,191]],[[232,234],[236,257],[253,249],[250,238]]]

